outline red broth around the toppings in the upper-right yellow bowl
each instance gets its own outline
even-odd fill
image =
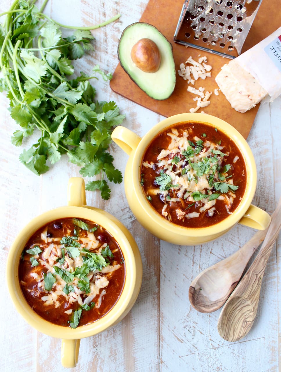
[[[202,206],[200,201],[193,201],[192,203],[185,200],[184,198],[180,198],[180,201],[172,201],[168,202],[167,198],[163,196],[163,194],[156,194],[154,195],[155,189],[159,189],[158,184],[155,182],[156,177],[159,177],[160,171],[163,170],[165,167],[160,166],[158,156],[163,149],[167,150],[169,144],[171,144],[172,140],[171,137],[168,136],[168,133],[171,133],[172,129],[177,129],[179,132],[178,137],[183,135],[184,131],[188,131],[188,140],[196,143],[194,137],[200,138],[203,140],[203,148],[206,148],[205,143],[206,141],[212,142],[214,144],[220,144],[219,146],[223,146],[222,152],[229,153],[228,156],[223,157],[223,161],[221,164],[221,168],[224,167],[226,164],[231,164],[231,169],[227,172],[227,176],[232,175],[231,179],[233,180],[233,184],[238,186],[238,189],[234,192],[235,198],[233,198],[233,203],[231,205],[231,209],[229,212],[232,213],[239,205],[246,189],[246,165],[243,155],[235,142],[229,138],[224,132],[220,129],[214,128],[207,123],[201,122],[180,122],[170,126],[169,128],[165,129],[164,131],[160,132],[156,137],[150,142],[148,147],[146,148],[145,154],[142,159],[142,166],[140,170],[140,184],[143,186],[143,192],[148,198],[149,203],[158,212],[163,218],[168,219],[170,222],[189,228],[198,228],[198,227],[208,227],[218,222],[222,221],[223,219],[229,216],[227,209],[225,208],[225,201],[216,199],[215,208],[216,211],[212,216],[208,214],[208,211],[201,212],[199,217],[196,218],[183,218],[179,219],[176,213],[176,209],[181,209],[182,211],[187,211],[186,214],[192,212],[198,212],[198,209]],[[203,137],[203,134],[206,137]],[[180,154],[180,155],[179,155]],[[166,160],[173,159],[175,156],[180,157],[180,160],[183,160],[183,155],[180,153],[177,154],[169,154],[165,157]],[[234,161],[235,158],[239,157],[236,162]],[[168,160],[169,161],[169,160]],[[143,163],[153,163],[153,167],[144,166]],[[185,163],[187,164],[187,163]],[[173,170],[175,169],[175,165],[172,165]],[[167,171],[167,170],[166,170]],[[227,180],[225,181],[227,182]],[[187,190],[188,191],[188,190]],[[213,190],[214,193],[217,191]],[[233,193],[232,193],[233,194]],[[173,188],[168,190],[168,195],[172,198],[177,198],[177,191]],[[223,195],[223,194],[222,194]],[[168,212],[168,216],[164,217],[162,215],[162,208],[167,204],[167,209],[165,211]],[[193,204],[193,205],[191,205]]]

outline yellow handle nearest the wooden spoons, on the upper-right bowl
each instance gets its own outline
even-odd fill
[[[240,219],[239,224],[252,227],[257,230],[265,230],[270,224],[269,214],[255,205],[250,205],[247,212]]]

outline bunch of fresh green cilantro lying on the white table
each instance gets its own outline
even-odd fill
[[[109,199],[105,178],[120,183],[122,175],[107,150],[114,126],[125,115],[120,115],[112,101],[94,100],[96,90],[89,80],[95,76],[83,72],[75,78],[70,76],[74,73],[72,60],[93,51],[89,29],[120,15],[88,29],[77,27],[73,35],[63,37],[63,25],[42,13],[47,1],[40,10],[36,1],[14,1],[3,13],[7,17],[0,27],[0,91],[7,92],[11,116],[21,127],[13,133],[12,143],[20,146],[37,132],[37,142],[20,155],[28,169],[38,175],[45,173],[48,163],[54,164],[67,154],[71,163],[81,167],[83,176],[100,174],[98,180],[87,183],[86,189],[99,189],[102,198]],[[98,65],[93,73],[101,74],[105,81],[112,77]]]

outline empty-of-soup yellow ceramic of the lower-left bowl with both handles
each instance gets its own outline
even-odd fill
[[[29,238],[46,223],[67,217],[85,218],[103,226],[119,244],[126,267],[123,291],[113,308],[93,323],[75,329],[55,325],[41,318],[26,302],[19,283],[20,256]],[[100,333],[125,317],[136,301],[141,282],[142,260],[135,240],[115,217],[101,209],[86,205],[85,184],[81,177],[73,177],[68,182],[68,206],[39,215],[20,231],[10,248],[7,260],[7,284],[17,311],[36,330],[62,339],[62,365],[68,368],[77,365],[81,338]]]

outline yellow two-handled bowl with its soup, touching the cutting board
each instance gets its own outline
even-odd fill
[[[237,222],[265,229],[269,215],[251,205],[256,167],[242,135],[201,113],[164,119],[143,138],[117,127],[127,154],[125,193],[139,222],[174,244],[210,241]]]

